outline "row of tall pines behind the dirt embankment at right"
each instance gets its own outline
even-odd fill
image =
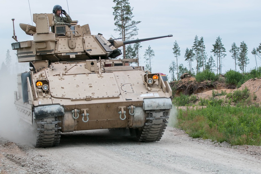
[[[170,80],[179,80],[180,76],[185,72],[197,74],[200,71],[209,70],[212,73],[216,72],[216,74],[221,74],[224,64],[224,58],[227,56],[226,49],[221,40],[222,39],[220,38],[220,36],[218,36],[215,43],[212,45],[213,49],[211,50],[211,52],[213,53],[213,56],[215,58],[213,58],[212,55],[210,55],[208,58],[205,50],[204,38],[201,37],[200,39],[198,39],[198,36],[196,35],[191,49],[187,48],[185,51],[184,58],[185,61],[188,62],[188,69],[184,67],[183,64],[180,64],[178,66],[177,62],[178,57],[180,56],[180,47],[178,46],[177,41],[175,41],[173,47],[174,60],[169,65],[169,73],[171,74]],[[240,43],[240,46],[237,47],[234,42],[229,52],[232,54],[232,59],[234,59],[235,70],[238,66],[241,70],[241,73],[245,73],[246,66],[247,64],[249,64],[249,59],[247,57],[248,47],[246,43],[242,41]],[[252,54],[255,56],[256,59],[259,58],[261,60],[261,43],[257,48],[253,48]],[[195,67],[192,66],[192,62],[195,62]],[[176,72],[176,76],[174,72]]]

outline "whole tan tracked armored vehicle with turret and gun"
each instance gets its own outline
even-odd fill
[[[140,142],[159,141],[172,109],[172,91],[159,73],[132,67],[137,59],[111,59],[119,47],[139,41],[106,40],[87,25],[55,26],[54,14],[33,14],[20,24],[33,40],[12,43],[29,72],[17,75],[15,105],[35,126],[35,147],[56,146],[61,132],[127,128]],[[16,36],[14,34],[14,39]]]

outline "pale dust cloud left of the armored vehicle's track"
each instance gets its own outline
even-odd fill
[[[32,125],[20,120],[14,105],[14,91],[17,91],[17,75],[1,71],[0,74],[0,138],[32,146]]]

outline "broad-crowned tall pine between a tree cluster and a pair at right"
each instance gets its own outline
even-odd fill
[[[215,44],[213,45],[213,49],[211,52],[214,53],[214,56],[217,57],[217,74],[219,70],[219,74],[222,72],[222,58],[226,56],[224,52],[226,52],[226,49],[224,45],[221,42],[220,36],[217,37]]]

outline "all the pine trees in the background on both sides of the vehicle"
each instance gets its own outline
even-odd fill
[[[114,31],[119,33],[123,41],[134,39],[134,37],[138,35],[139,29],[137,25],[141,21],[132,20],[132,18],[134,17],[132,13],[133,8],[129,5],[128,0],[113,0],[113,2],[115,3],[115,7],[112,7],[112,9],[114,10],[114,25],[116,26]],[[175,41],[173,45],[174,58],[169,65],[169,73],[171,75],[170,80],[179,80],[179,77],[185,72],[196,74],[203,70],[209,70],[211,72],[221,74],[224,58],[226,57],[226,49],[224,48],[224,45],[222,44],[221,40],[222,39],[220,38],[220,36],[218,36],[215,43],[212,45],[213,49],[211,52],[213,53],[213,56],[215,58],[212,55],[208,57],[205,50],[204,38],[201,37],[199,39],[196,35],[192,47],[190,49],[186,48],[185,51],[184,58],[185,61],[188,62],[188,68],[183,64],[178,64],[178,59],[181,53],[180,47],[177,41]],[[139,42],[129,44],[127,46],[123,45],[123,58],[139,59],[141,47],[142,46]],[[238,65],[239,69],[241,70],[241,73],[245,73],[246,66],[247,64],[249,64],[249,59],[247,57],[248,48],[246,43],[242,41],[240,43],[240,46],[237,47],[234,42],[229,52],[232,54],[232,59],[234,59],[235,70]],[[253,48],[251,53],[254,55],[257,65],[257,59],[261,60],[261,43],[258,47]],[[152,71],[152,58],[155,56],[155,53],[154,50],[150,47],[150,45],[148,46],[148,49],[146,49],[145,54],[143,56],[146,63],[145,70]],[[8,50],[5,62],[5,66],[7,67],[10,64],[10,57],[10,51]],[[193,67],[192,62],[195,62],[195,67]],[[2,64],[1,69],[5,66]]]

